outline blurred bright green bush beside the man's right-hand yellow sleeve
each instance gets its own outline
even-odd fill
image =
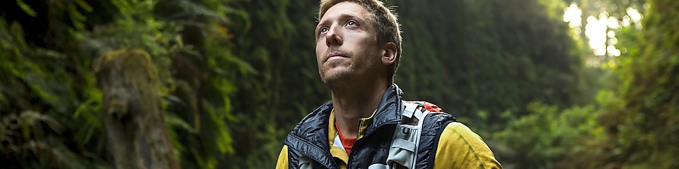
[[[494,149],[503,166],[515,168],[569,168],[559,163],[572,152],[586,153],[582,146],[588,140],[603,137],[597,123],[599,113],[594,106],[573,106],[559,110],[557,106],[532,102],[528,115],[502,114],[508,123],[486,140],[506,146]],[[493,144],[492,144],[493,145]]]

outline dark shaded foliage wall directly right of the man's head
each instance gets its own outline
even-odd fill
[[[561,21],[562,1],[393,4],[402,6],[405,54],[395,80],[406,98],[443,105],[471,125],[480,122],[477,111],[525,114],[530,101],[559,107],[588,101],[583,62],[573,52],[579,49]]]

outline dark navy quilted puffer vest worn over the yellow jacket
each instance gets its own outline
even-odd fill
[[[394,129],[401,120],[401,95],[396,84],[387,89],[377,113],[373,116],[373,123],[366,129],[364,137],[354,144],[347,168],[368,168],[375,163],[385,164]],[[327,140],[330,111],[332,102],[328,101],[303,118],[288,134],[283,144],[288,146],[289,168],[299,168],[301,159],[311,161],[313,168],[339,168],[330,154],[330,143]],[[455,118],[448,113],[426,115],[417,149],[416,168],[431,168],[434,165],[439,137],[443,128],[451,122],[455,122]]]

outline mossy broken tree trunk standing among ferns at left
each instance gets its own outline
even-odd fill
[[[180,168],[146,51],[110,51],[94,63],[103,92],[108,149],[115,168]]]

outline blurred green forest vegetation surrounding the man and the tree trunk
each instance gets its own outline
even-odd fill
[[[679,1],[390,0],[395,82],[505,168],[679,168]],[[182,168],[273,168],[330,99],[318,1],[0,2],[2,168],[112,168],[93,62],[148,52]],[[113,143],[115,144],[115,143]]]

